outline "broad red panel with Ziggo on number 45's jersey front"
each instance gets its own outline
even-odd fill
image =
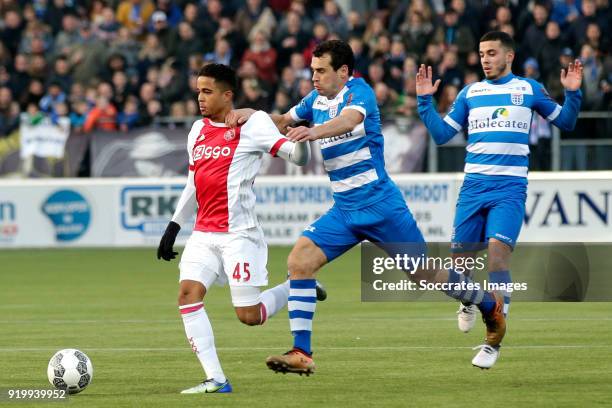
[[[195,231],[227,232],[227,177],[240,141],[240,128],[216,127],[205,121],[193,147],[194,183],[198,201]]]

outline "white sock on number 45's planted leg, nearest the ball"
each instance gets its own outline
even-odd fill
[[[225,374],[223,374],[215,349],[215,336],[208,315],[204,310],[203,302],[179,306],[179,310],[185,325],[187,340],[196,356],[198,356],[198,360],[200,360],[206,373],[206,378],[212,378],[221,383],[225,382]]]

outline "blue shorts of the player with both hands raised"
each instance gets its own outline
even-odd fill
[[[523,225],[526,199],[527,184],[523,179],[466,179],[457,200],[453,251],[483,249],[489,238],[514,248]]]

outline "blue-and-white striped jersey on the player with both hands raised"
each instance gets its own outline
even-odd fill
[[[431,96],[419,96],[419,114],[436,143],[467,128],[466,178],[527,177],[533,111],[563,130],[571,130],[580,110],[580,91],[566,91],[563,107],[530,78],[513,74],[467,85],[443,121]],[[435,118],[434,118],[435,115]]]

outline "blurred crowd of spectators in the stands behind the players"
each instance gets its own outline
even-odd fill
[[[511,34],[514,72],[562,102],[561,67],[584,64],[583,110],[610,110],[609,0],[0,0],[0,137],[69,117],[74,132],[127,131],[198,115],[207,61],[240,77],[239,107],[285,112],[312,90],[323,40],[349,42],[383,118],[416,117],[418,64],[448,111],[481,79],[478,39]]]

